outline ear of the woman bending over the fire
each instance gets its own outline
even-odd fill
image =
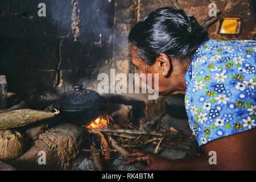
[[[156,57],[156,66],[158,67],[158,73],[164,77],[168,76],[171,72],[171,59],[168,55],[160,53]]]

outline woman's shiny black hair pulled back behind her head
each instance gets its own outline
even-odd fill
[[[208,31],[184,10],[163,7],[135,24],[128,40],[137,47],[137,55],[152,65],[159,53],[179,59],[191,57],[208,40]]]

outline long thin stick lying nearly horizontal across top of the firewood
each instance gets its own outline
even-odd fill
[[[122,134],[137,134],[137,135],[154,135],[159,137],[175,137],[177,138],[177,133],[160,133],[158,131],[139,131],[139,130],[124,130],[124,129],[93,129],[88,128],[93,131],[101,131],[104,133],[122,133]]]

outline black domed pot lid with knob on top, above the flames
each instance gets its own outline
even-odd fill
[[[108,102],[94,90],[82,89],[83,85],[73,85],[73,91],[60,96],[53,106],[61,111],[89,111],[106,106]]]

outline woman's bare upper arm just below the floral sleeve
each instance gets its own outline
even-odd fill
[[[256,129],[213,140],[204,145],[205,154],[215,151],[213,170],[256,170]]]

